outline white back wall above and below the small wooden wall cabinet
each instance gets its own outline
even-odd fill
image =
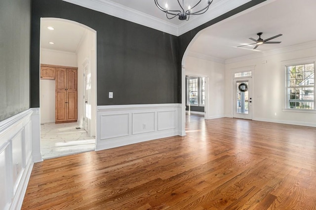
[[[77,67],[77,55],[41,48],[40,63]],[[40,80],[40,122],[55,122],[55,80]]]

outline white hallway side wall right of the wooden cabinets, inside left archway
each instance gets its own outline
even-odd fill
[[[86,30],[77,50],[78,57],[78,121],[83,127],[83,69],[88,65],[87,77],[91,78],[91,89],[87,90],[89,95],[88,104],[91,105],[91,119],[89,120],[90,135],[96,132],[96,65],[95,65],[95,33]]]

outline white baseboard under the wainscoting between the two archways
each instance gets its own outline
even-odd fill
[[[135,136],[135,137],[120,139],[120,140],[111,140],[111,141],[101,140],[100,143],[96,145],[95,150],[96,151],[107,150],[111,148],[122,147],[126,145],[152,141],[155,139],[161,139],[161,138],[166,138],[166,137],[171,137],[171,136],[176,136],[176,135],[178,135],[178,132],[171,131],[171,132],[163,132],[163,133],[153,133],[151,135],[146,135],[146,136]]]

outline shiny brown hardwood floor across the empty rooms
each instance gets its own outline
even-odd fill
[[[316,209],[316,128],[222,118],[186,130],[36,163],[22,209]]]

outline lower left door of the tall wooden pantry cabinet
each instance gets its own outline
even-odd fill
[[[56,90],[55,122],[67,120],[66,90]]]

